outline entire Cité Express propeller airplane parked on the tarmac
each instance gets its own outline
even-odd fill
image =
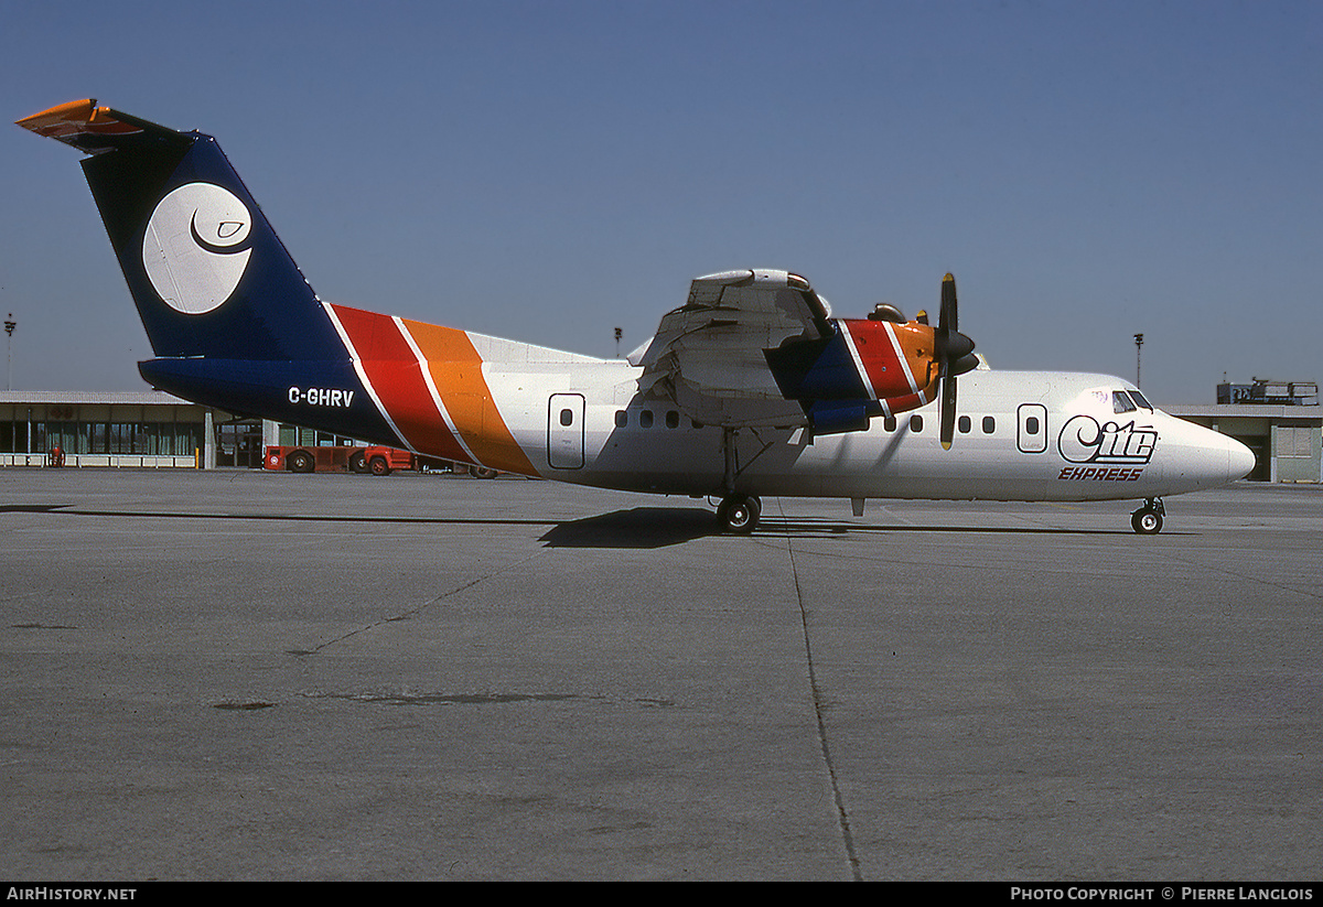
[[[581,485],[718,501],[750,533],[762,496],[1140,500],[1241,479],[1253,452],[1105,374],[987,368],[958,328],[892,305],[835,317],[804,278],[695,279],[623,360],[321,300],[216,139],[75,100],[17,124],[83,173],[161,390],[230,413]],[[957,385],[959,382],[959,398]],[[958,407],[959,403],[959,407]]]

